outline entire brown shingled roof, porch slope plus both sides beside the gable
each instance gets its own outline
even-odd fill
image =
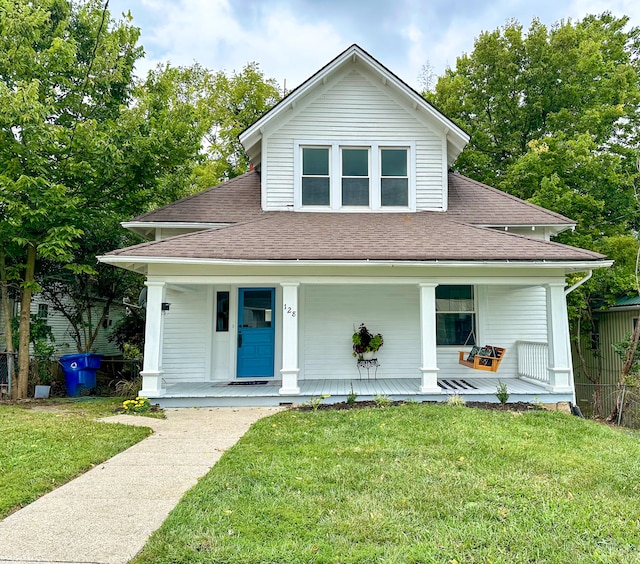
[[[108,253],[110,257],[229,260],[593,261],[605,257],[483,225],[573,222],[458,174],[449,210],[416,213],[264,212],[250,172],[132,222],[228,223]],[[475,225],[474,225],[475,224]]]

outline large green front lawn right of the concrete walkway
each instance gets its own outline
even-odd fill
[[[638,435],[559,413],[288,411],[134,562],[638,562],[638,476]]]

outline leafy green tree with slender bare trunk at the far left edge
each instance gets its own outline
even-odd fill
[[[95,181],[89,163],[105,139],[101,124],[129,99],[138,34],[95,0],[0,0],[2,236],[19,246],[22,273],[17,397],[27,393],[36,261],[72,259],[84,187]]]

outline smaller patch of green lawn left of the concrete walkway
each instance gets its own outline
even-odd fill
[[[148,428],[94,421],[121,404],[81,398],[0,405],[0,519],[147,437]]]

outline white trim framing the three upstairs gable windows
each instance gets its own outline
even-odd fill
[[[303,206],[302,205],[302,148],[303,147],[326,147],[329,149],[329,206]],[[343,206],[342,205],[342,170],[341,153],[342,148],[369,149],[370,170],[369,170],[369,206]],[[409,205],[392,207],[382,206],[380,197],[380,149],[407,149],[409,176]],[[371,140],[334,140],[326,139],[296,139],[294,140],[293,158],[293,208],[295,211],[305,212],[343,212],[343,213],[402,213],[416,211],[416,144],[415,142],[403,141],[371,141]]]

